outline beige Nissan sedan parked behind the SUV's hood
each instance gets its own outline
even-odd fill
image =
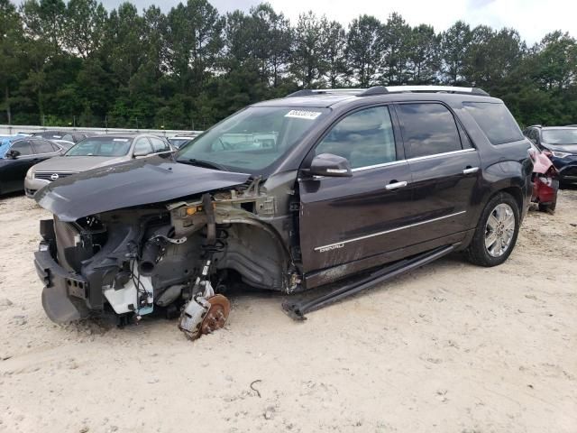
[[[151,134],[106,134],[87,137],[52,161],[32,167],[26,174],[26,196],[32,198],[38,189],[52,180],[81,171],[96,169],[118,162],[174,152],[164,138]]]

